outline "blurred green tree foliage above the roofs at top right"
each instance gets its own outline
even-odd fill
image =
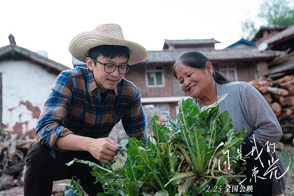
[[[294,6],[290,0],[264,0],[257,17],[264,19],[263,26],[290,26],[294,24]],[[258,28],[251,20],[242,23],[244,37],[251,40]]]

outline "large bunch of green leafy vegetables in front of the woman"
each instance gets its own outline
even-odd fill
[[[229,196],[224,187],[240,183],[239,178],[227,176],[238,166],[237,149],[245,129],[234,129],[228,111],[218,115],[219,103],[225,97],[220,96],[201,111],[193,99],[180,100],[177,122],[168,117],[170,126],[157,124],[158,117],[154,116],[151,126],[156,142],[150,137],[146,145],[135,138],[122,140],[121,148],[127,153],[122,168],[111,170],[109,165],[77,159],[72,162],[92,168],[105,190],[98,196]],[[207,187],[220,190],[207,192]]]

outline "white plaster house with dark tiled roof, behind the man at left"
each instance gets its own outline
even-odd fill
[[[17,46],[12,35],[9,41],[10,45],[0,48],[2,129],[17,133],[17,138],[34,138],[50,86],[69,68],[50,60],[45,51]]]

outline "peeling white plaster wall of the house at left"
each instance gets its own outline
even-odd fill
[[[0,62],[2,73],[2,123],[14,130],[16,124],[22,133],[35,129],[38,118],[23,102],[30,102],[40,110],[48,98],[50,86],[58,74],[49,73],[30,61],[7,60]]]

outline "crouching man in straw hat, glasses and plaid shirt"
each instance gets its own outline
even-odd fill
[[[130,137],[145,140],[145,116],[138,89],[124,79],[130,65],[148,52],[123,39],[116,24],[78,34],[69,51],[85,62],[59,74],[37,123],[36,140],[26,156],[25,196],[50,196],[52,183],[76,176],[90,196],[103,192],[85,164],[66,166],[73,158],[109,163],[119,145],[108,135],[122,120]]]

